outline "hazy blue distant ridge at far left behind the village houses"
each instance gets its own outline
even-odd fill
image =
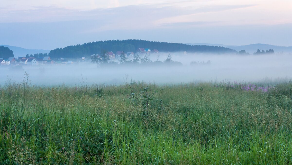
[[[5,47],[8,47],[10,50],[12,50],[15,58],[25,56],[26,54],[34,55],[35,53],[49,53],[50,52],[50,50],[44,50],[44,49],[25,49],[18,46],[10,46],[10,45],[0,45],[0,46],[5,46]]]

